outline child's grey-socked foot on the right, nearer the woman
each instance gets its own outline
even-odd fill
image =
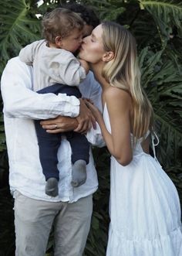
[[[72,166],[72,186],[81,186],[86,182],[86,161],[77,160]]]

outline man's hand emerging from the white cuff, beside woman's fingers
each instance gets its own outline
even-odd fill
[[[74,131],[85,134],[87,131],[90,130],[92,126],[93,128],[96,127],[96,119],[93,117],[93,114],[89,110],[89,108],[86,107],[83,99],[79,99],[79,101],[79,116],[76,118],[79,125],[76,129],[74,129]]]

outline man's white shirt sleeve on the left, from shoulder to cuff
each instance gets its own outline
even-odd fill
[[[8,118],[49,119],[79,115],[79,100],[66,94],[37,94],[32,90],[32,67],[15,57],[9,60],[1,80],[3,112]]]

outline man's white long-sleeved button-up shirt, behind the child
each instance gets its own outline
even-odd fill
[[[80,85],[80,91],[94,102],[101,101],[101,89],[93,79],[93,73],[87,77]],[[10,189],[12,192],[17,189],[33,199],[55,202],[73,202],[94,193],[98,182],[91,150],[86,183],[72,188],[71,148],[66,138],[62,138],[58,152],[59,196],[50,197],[45,194],[45,177],[39,162],[39,146],[32,119],[55,118],[59,114],[76,116],[79,114],[79,101],[76,97],[62,94],[37,94],[32,91],[31,78],[32,67],[22,63],[19,57],[9,60],[2,74]]]

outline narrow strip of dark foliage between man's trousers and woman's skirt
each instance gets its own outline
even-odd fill
[[[93,219],[84,256],[106,254],[109,227],[110,198],[110,154],[106,148],[93,148],[96,170],[99,176],[99,189],[93,195]]]

